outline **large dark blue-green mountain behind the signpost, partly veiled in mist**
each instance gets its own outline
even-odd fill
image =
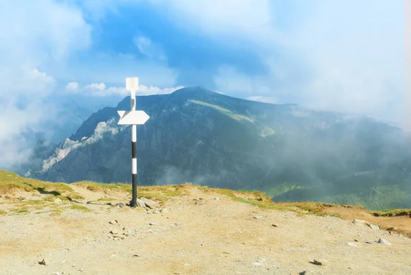
[[[139,184],[192,182],[258,189],[274,200],[411,207],[410,181],[398,167],[408,167],[405,141],[386,123],[199,87],[136,100],[151,117],[138,126]],[[131,132],[116,125],[117,110],[129,110],[129,97],[90,116],[34,177],[129,182]],[[354,173],[362,178],[352,180]],[[388,198],[375,195],[387,188]]]

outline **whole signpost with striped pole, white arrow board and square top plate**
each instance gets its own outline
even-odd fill
[[[138,77],[127,77],[125,88],[130,91],[131,110],[117,111],[120,115],[119,125],[132,125],[132,207],[137,206],[137,125],[144,124],[150,117],[145,111],[136,111],[136,90]]]

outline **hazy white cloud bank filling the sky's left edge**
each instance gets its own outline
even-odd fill
[[[39,68],[63,63],[73,51],[88,47],[90,27],[80,10],[64,3],[0,5],[0,169],[7,169],[30,153],[21,132],[36,130],[36,123],[51,115],[42,99],[55,88],[55,79]]]

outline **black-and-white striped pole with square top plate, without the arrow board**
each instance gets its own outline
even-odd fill
[[[131,94],[131,109],[136,110],[138,77],[126,78],[126,88]],[[137,207],[137,125],[132,124],[132,207]]]

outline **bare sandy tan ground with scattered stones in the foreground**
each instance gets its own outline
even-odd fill
[[[84,201],[107,196],[76,191]],[[0,210],[12,203],[0,199]],[[411,274],[411,239],[354,225],[385,220],[361,213],[340,210],[344,220],[264,210],[196,188],[167,200],[163,213],[163,206],[55,205],[59,215],[38,208],[43,213],[0,216],[0,274]],[[379,238],[392,246],[373,242]]]

